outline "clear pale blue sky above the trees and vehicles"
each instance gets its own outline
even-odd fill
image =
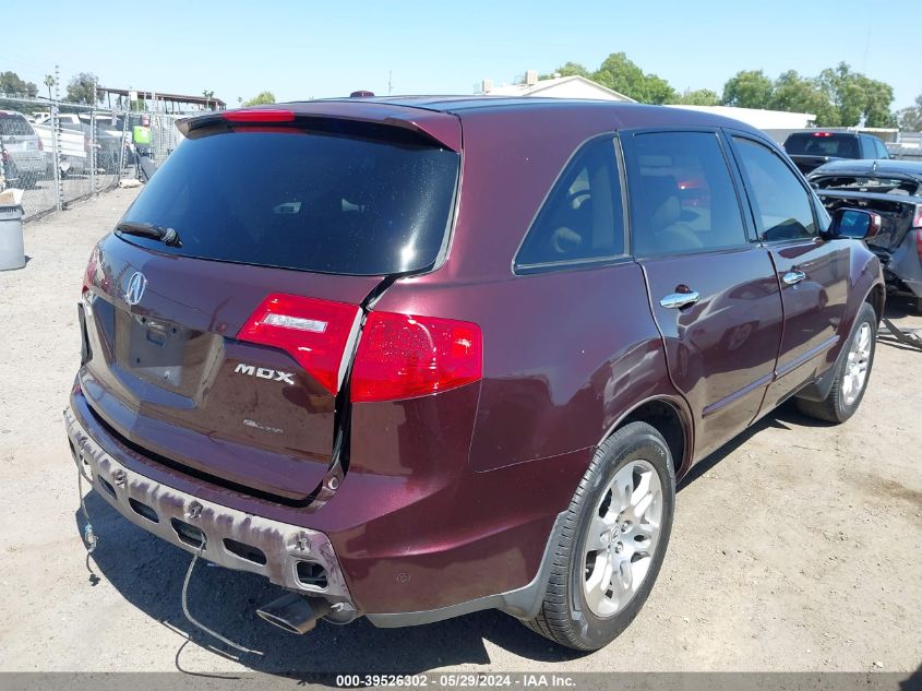
[[[57,62],[62,82],[88,71],[117,87],[208,88],[230,105],[263,90],[383,95],[388,73],[395,94],[470,94],[484,78],[567,60],[595,69],[619,51],[680,92],[720,92],[742,69],[814,75],[846,61],[891,84],[894,107],[922,93],[919,0],[5,2],[3,23],[31,28],[4,27],[0,71],[40,84]]]

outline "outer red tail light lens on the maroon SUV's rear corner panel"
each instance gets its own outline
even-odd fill
[[[356,364],[356,403],[455,389],[483,376],[483,336],[470,322],[393,312],[368,315]]]

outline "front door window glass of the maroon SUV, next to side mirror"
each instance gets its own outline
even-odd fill
[[[767,146],[752,140],[733,138],[740,165],[749,180],[761,240],[795,240],[816,235],[810,195],[797,176]]]

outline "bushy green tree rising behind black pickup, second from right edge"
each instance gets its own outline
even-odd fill
[[[852,72],[846,62],[836,68],[823,70],[819,84],[829,94],[834,112],[830,122],[843,127],[893,127],[896,118],[890,112],[894,100],[893,87],[872,80],[860,72]],[[817,124],[819,122],[817,121]]]

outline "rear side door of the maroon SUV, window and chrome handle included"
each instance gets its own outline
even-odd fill
[[[670,377],[696,417],[699,458],[759,410],[781,339],[778,282],[766,250],[750,242],[719,132],[623,141],[633,251]]]

